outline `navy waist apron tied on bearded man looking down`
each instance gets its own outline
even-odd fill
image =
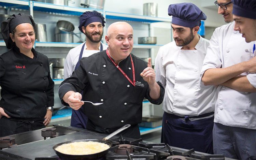
[[[195,151],[213,154],[212,130],[214,116],[195,121],[189,120],[189,118],[208,117],[212,114],[214,113],[194,117],[179,117],[164,112],[161,143],[185,149],[193,148]]]

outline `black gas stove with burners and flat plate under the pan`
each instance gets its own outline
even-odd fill
[[[54,125],[42,130],[29,131],[0,138],[1,160],[60,160],[53,146],[66,141],[80,139],[103,139],[106,134],[81,128]],[[145,142],[114,136],[112,147],[101,157],[106,160],[232,160],[223,155],[169,146],[164,143]]]

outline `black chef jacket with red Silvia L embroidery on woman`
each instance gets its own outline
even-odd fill
[[[14,46],[0,56],[0,106],[16,119],[42,119],[54,105],[54,82],[48,58],[32,48],[34,58]]]

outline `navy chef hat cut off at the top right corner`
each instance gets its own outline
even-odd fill
[[[233,3],[232,13],[237,16],[256,19],[255,0],[231,0]]]

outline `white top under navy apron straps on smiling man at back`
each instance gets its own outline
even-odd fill
[[[86,43],[86,42],[84,42]],[[72,48],[69,50],[69,53],[65,59],[64,63],[64,79],[70,77],[75,70],[76,63],[78,62],[79,55],[82,49],[83,44],[80,44],[79,46],[76,46],[75,48]],[[103,50],[107,49],[108,46],[102,43]],[[84,45],[84,51],[82,57],[89,57],[90,55],[94,53],[100,52],[100,46],[99,50],[86,50],[86,44]]]

